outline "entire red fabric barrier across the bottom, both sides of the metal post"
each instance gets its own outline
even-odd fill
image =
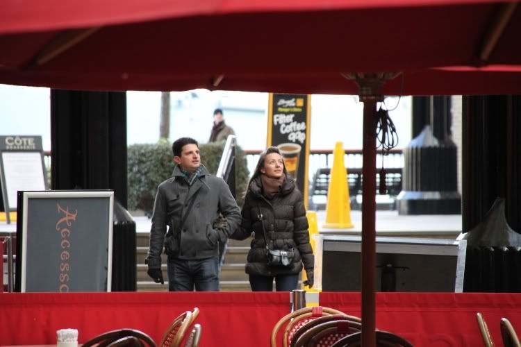
[[[360,315],[359,293],[322,293],[320,305]],[[269,346],[270,332],[289,312],[288,293],[16,293],[0,294],[0,344],[55,344],[56,330],[77,328],[83,343],[119,328],[159,342],[171,321],[199,307],[201,345]],[[500,344],[499,319],[521,332],[521,294],[378,293],[377,328],[415,346],[482,346],[476,312]]]

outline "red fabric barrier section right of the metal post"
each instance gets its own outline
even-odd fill
[[[358,293],[320,294],[320,305],[357,316],[360,302]],[[502,317],[521,333],[521,294],[377,293],[376,326],[405,337],[414,346],[483,346],[477,312],[483,314],[499,346]]]

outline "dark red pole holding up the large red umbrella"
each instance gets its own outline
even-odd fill
[[[377,203],[377,98],[363,99],[362,181],[362,346],[376,346],[376,294],[374,282]]]

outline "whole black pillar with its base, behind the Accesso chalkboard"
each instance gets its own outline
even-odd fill
[[[52,189],[113,189],[113,291],[134,291],[135,222],[126,211],[126,94],[51,90]]]

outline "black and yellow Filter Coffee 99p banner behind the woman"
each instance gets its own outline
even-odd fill
[[[267,146],[279,147],[288,174],[308,205],[308,161],[311,95],[270,93]]]

